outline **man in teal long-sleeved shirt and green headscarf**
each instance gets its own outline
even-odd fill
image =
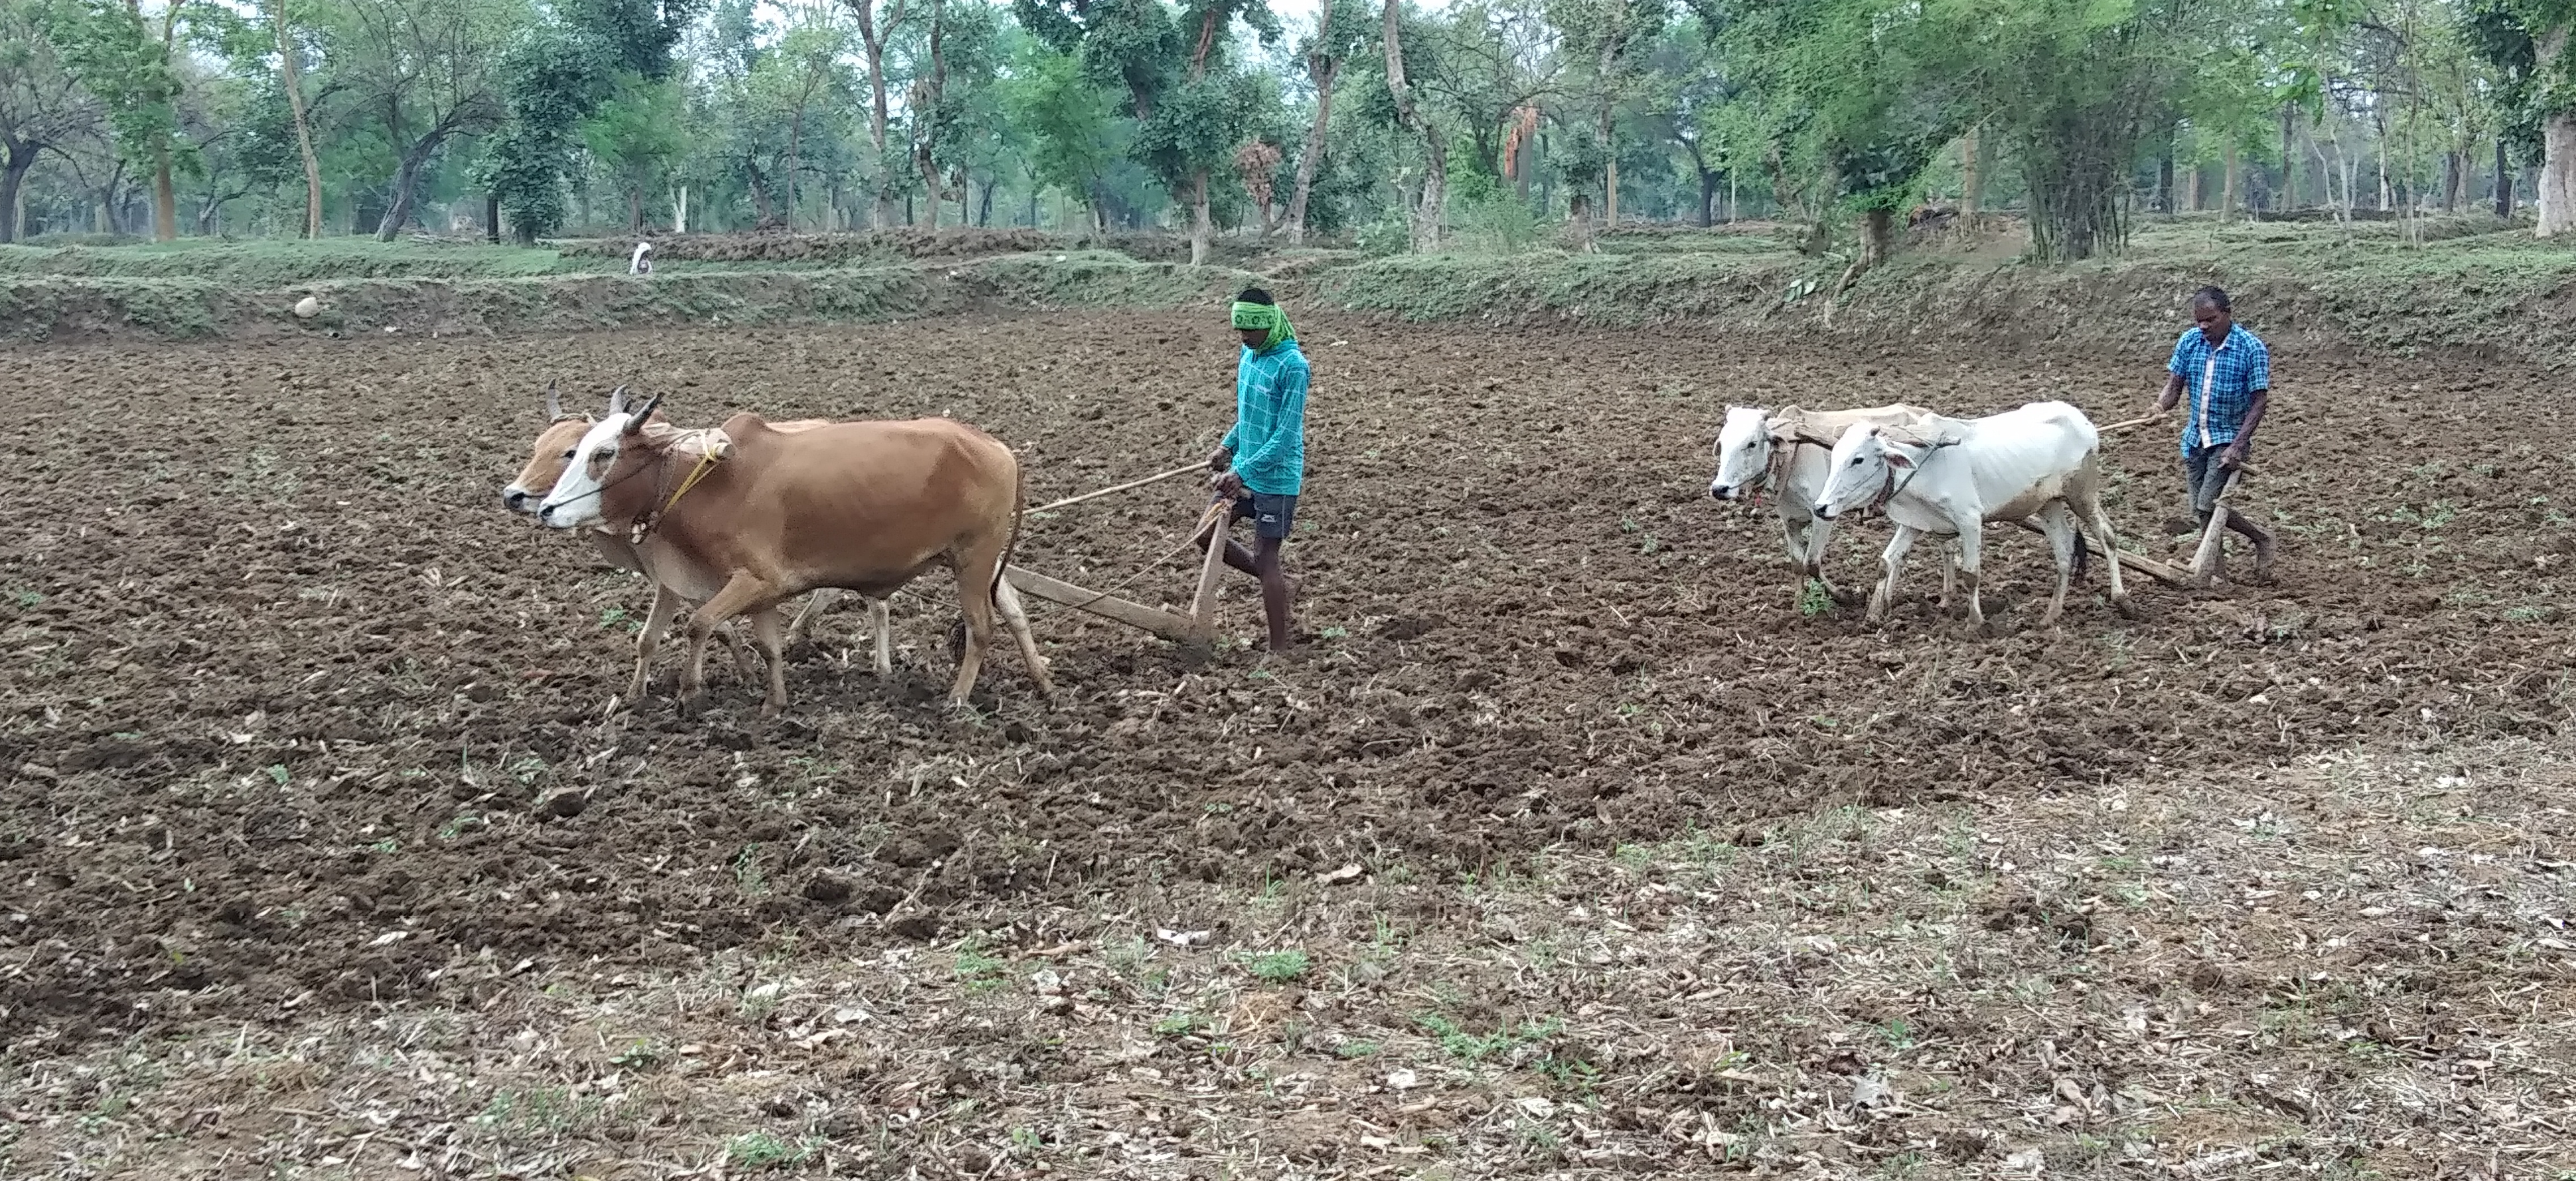
[[[1226,526],[1200,534],[1200,544],[1226,544],[1226,565],[1262,580],[1270,650],[1288,652],[1288,606],[1296,583],[1280,572],[1280,544],[1296,526],[1296,498],[1306,485],[1306,353],[1270,291],[1247,286],[1229,317],[1244,338],[1234,361],[1234,431],[1208,456],[1218,500],[1234,500],[1231,521],[1252,518],[1252,549],[1226,539]]]

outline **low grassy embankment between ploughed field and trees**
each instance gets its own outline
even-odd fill
[[[2576,358],[2576,250],[2488,219],[2148,222],[2115,260],[2027,263],[2017,232],[1940,232],[1839,297],[1844,255],[1801,255],[1788,229],[1641,229],[1600,253],[1443,255],[1265,250],[1177,263],[1177,242],[963,235],[683,237],[652,278],[626,240],[523,250],[482,242],[178,242],[0,248],[0,338],[276,333],[569,333],[623,325],[886,320],[974,307],[1175,307],[1260,276],[1291,299],[1406,320],[1834,330],[1860,340],[1973,338],[2146,346],[2174,307],[2226,284],[2272,335],[2372,348],[2473,348],[2543,366]],[[312,294],[314,320],[289,309]]]

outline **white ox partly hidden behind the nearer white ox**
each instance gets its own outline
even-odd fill
[[[1726,407],[1726,423],[1718,428],[1718,474],[1708,482],[1708,495],[1718,500],[1772,498],[1772,513],[1780,516],[1790,565],[1801,575],[1824,583],[1824,593],[1834,596],[1837,603],[1852,606],[1857,596],[1842,593],[1824,575],[1824,547],[1834,539],[1834,521],[1816,516],[1816,495],[1824,493],[1826,462],[1834,441],[1855,423],[1901,425],[1922,418],[1932,418],[1932,410],[1904,402],[1862,410],[1801,410],[1795,405],[1762,410],[1731,405]],[[1947,567],[1942,572],[1942,603],[1947,603]]]

